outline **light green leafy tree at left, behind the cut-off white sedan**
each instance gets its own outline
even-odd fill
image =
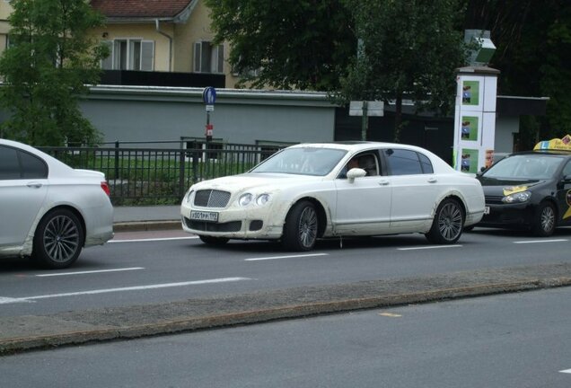
[[[4,137],[32,145],[93,144],[99,134],[78,99],[97,84],[107,48],[89,31],[103,22],[83,0],[14,0],[10,45],[0,57]]]

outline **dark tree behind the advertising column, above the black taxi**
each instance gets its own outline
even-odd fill
[[[571,3],[567,0],[465,0],[465,25],[491,31],[501,71],[498,93],[547,96],[545,117],[523,117],[523,149],[571,133]]]

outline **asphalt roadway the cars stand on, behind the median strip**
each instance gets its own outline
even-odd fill
[[[25,260],[0,261],[0,317],[358,281],[571,263],[571,228],[549,239],[477,229],[458,244],[422,235],[320,242],[311,252],[269,242],[204,245],[180,231],[117,234],[83,251],[71,269],[44,271]]]

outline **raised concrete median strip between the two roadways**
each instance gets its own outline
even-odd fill
[[[537,276],[530,276],[532,272]],[[556,264],[0,318],[0,355],[93,341],[127,340],[324,313],[567,286],[571,286],[571,264]]]

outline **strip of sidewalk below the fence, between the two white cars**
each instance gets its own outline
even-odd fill
[[[114,207],[115,232],[180,229],[180,205]]]

